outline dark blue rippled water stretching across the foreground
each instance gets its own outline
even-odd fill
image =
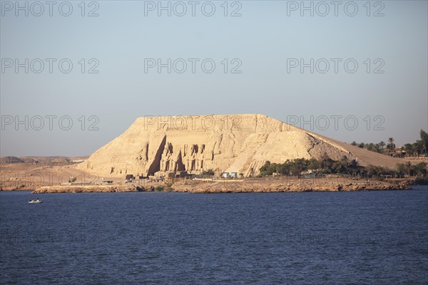
[[[428,284],[427,187],[0,192],[0,222],[1,284]]]

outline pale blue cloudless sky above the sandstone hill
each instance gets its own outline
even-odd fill
[[[15,1],[1,1],[1,156],[89,155],[144,115],[262,113],[285,122],[290,116],[305,120],[311,115],[314,120],[355,116],[359,123],[355,130],[345,128],[343,118],[337,130],[333,119],[330,128],[320,130],[315,125],[313,130],[345,142],[393,137],[397,145],[414,142],[421,128],[428,129],[427,1],[371,1],[370,11],[366,1],[342,1],[337,16],[330,1],[327,16],[321,16],[327,10],[318,1],[312,1],[314,16],[301,11],[300,1],[229,1],[228,16],[224,1],[212,1],[215,12],[205,16],[210,13],[206,2],[198,1],[195,16],[188,1],[182,2],[187,9],[184,16],[175,15],[183,12],[183,5],[175,1],[170,1],[171,16],[158,11],[158,1],[87,1],[85,16],[78,6],[81,1],[70,1],[70,16],[61,15],[68,13],[66,4],[59,11],[63,1],[52,7],[52,16],[48,5],[41,14],[40,6],[28,2],[29,16],[25,16]],[[358,11],[349,16],[354,13],[353,3]],[[305,1],[305,6],[310,5]],[[98,16],[88,16],[93,9]],[[237,9],[241,16],[230,16]],[[25,58],[29,73],[24,72]],[[35,58],[44,61],[41,73],[34,72],[40,69]],[[46,58],[56,59],[52,73]],[[58,68],[63,58],[73,63],[70,73]],[[88,62],[91,58],[96,61]],[[183,58],[188,69],[167,73],[162,68],[158,73],[156,67],[146,66],[145,73],[145,58],[161,58],[163,63]],[[188,58],[200,59],[195,73]],[[214,61],[213,73],[201,69],[205,58]],[[224,58],[228,73],[223,71]],[[239,61],[232,63],[234,58]],[[290,58],[305,63],[314,58],[314,73],[310,67],[303,73],[300,67],[290,68]],[[320,58],[330,62],[326,73],[319,72],[325,61],[315,66]],[[342,59],[337,73],[332,58]],[[344,62],[350,58],[358,63],[355,73],[345,71]],[[15,66],[9,67],[15,59],[24,63],[18,73]],[[88,73],[97,61],[99,72]],[[238,63],[241,73],[230,73]],[[175,69],[181,64],[177,62]],[[66,63],[63,66],[67,68]],[[348,67],[352,69],[352,64]],[[49,115],[56,116],[52,130]],[[85,130],[78,120],[82,115]],[[91,115],[99,121],[88,121]],[[24,124],[16,130],[15,122],[9,125],[16,116],[20,120],[29,116],[33,125],[29,121],[29,130]],[[44,118],[41,130],[36,130],[37,116]],[[59,128],[58,118],[63,116],[73,121],[70,130]],[[367,116],[372,120],[370,130]],[[374,120],[376,116],[382,118]],[[63,123],[66,128],[67,120]],[[91,123],[98,130],[88,130]],[[376,123],[383,130],[374,130]]]

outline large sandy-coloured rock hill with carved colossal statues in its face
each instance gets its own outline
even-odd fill
[[[209,169],[248,176],[257,175],[267,160],[320,158],[325,152],[336,160],[360,155],[362,165],[396,163],[384,155],[377,156],[380,163],[370,163],[377,154],[265,115],[193,115],[137,118],[125,133],[76,167],[106,177]]]

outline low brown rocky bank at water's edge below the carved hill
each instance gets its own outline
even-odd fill
[[[170,187],[164,186],[165,192],[190,193],[241,193],[241,192],[337,192],[364,190],[409,190],[412,189],[409,180],[399,182],[375,180],[219,180],[215,182],[200,182],[187,180],[175,182]],[[153,191],[141,185],[68,185],[39,187],[34,194],[44,193],[82,193],[82,192],[146,192]]]

